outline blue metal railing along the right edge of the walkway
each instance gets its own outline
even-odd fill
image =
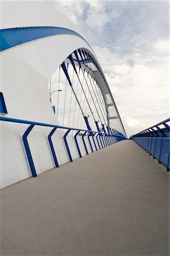
[[[167,171],[169,171],[169,125],[167,122],[170,118],[157,123],[154,126],[149,127],[146,130],[141,131],[131,137],[133,141],[144,148],[150,155],[159,160],[159,163],[165,164],[167,166]],[[160,128],[159,126],[163,127]]]

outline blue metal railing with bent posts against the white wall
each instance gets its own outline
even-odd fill
[[[111,134],[111,133],[101,133],[99,131],[91,131],[91,130],[83,130],[83,129],[75,129],[75,128],[71,128],[71,127],[65,127],[65,126],[59,126],[59,125],[50,125],[49,123],[40,123],[40,122],[32,122],[32,121],[27,121],[27,120],[21,120],[21,119],[15,119],[15,118],[8,118],[8,117],[0,117],[1,121],[6,121],[6,122],[14,122],[14,123],[24,123],[29,125],[27,130],[25,130],[25,133],[23,134],[23,143],[24,143],[24,147],[25,147],[25,152],[27,154],[27,159],[28,159],[28,163],[29,163],[29,167],[31,168],[31,172],[32,172],[32,176],[36,177],[36,169],[35,169],[35,165],[33,163],[33,158],[31,155],[31,150],[29,148],[29,144],[28,144],[28,134],[31,132],[31,130],[33,129],[34,126],[45,126],[45,127],[52,127],[52,131],[50,131],[49,135],[48,135],[48,142],[49,142],[49,146],[50,146],[50,151],[52,153],[53,156],[53,160],[55,163],[56,167],[59,167],[58,164],[58,160],[57,160],[57,155],[56,152],[54,150],[54,146],[53,146],[53,142],[52,142],[52,135],[54,134],[54,132],[57,129],[63,129],[63,130],[67,130],[66,133],[63,135],[63,141],[65,143],[65,147],[66,147],[66,152],[67,155],[69,157],[69,161],[73,162],[72,156],[71,156],[71,152],[70,152],[70,148],[69,148],[69,144],[67,143],[67,135],[70,133],[70,131],[76,131],[76,134],[74,135],[74,141],[75,141],[75,145],[76,145],[76,149],[78,150],[78,155],[81,158],[82,154],[80,152],[80,148],[79,148],[79,144],[78,141],[76,139],[76,137],[78,136],[78,134],[80,132],[82,132],[82,141],[83,141],[83,145],[84,145],[84,150],[86,151],[86,154],[88,155],[88,150],[87,150],[87,145],[86,142],[84,140],[84,136],[88,137],[88,142],[90,144],[91,147],[91,151],[94,152],[92,144],[91,144],[91,140],[90,137],[92,137],[95,148],[97,150],[97,146],[95,143],[95,135],[96,135],[96,141],[97,144],[99,146],[99,149],[110,146],[113,143],[116,143],[118,141],[122,141],[124,139],[126,139],[126,137],[124,137],[124,135],[117,135],[117,134]],[[99,139],[98,139],[99,137]],[[116,142],[113,138],[116,138]],[[100,141],[100,143],[99,143]],[[101,146],[100,146],[101,145]]]

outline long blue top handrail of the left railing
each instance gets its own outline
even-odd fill
[[[57,128],[66,129],[66,130],[86,131],[86,132],[89,132],[89,133],[98,133],[98,134],[112,135],[112,136],[115,136],[115,137],[125,137],[124,135],[111,134],[111,133],[103,133],[103,132],[100,132],[100,131],[77,129],[77,128],[72,128],[72,127],[59,126],[59,125],[51,125],[49,123],[34,122],[34,121],[28,121],[28,120],[16,119],[16,118],[10,118],[10,117],[2,117],[2,116],[0,116],[0,121],[15,122],[15,123],[25,123],[26,125],[46,126],[46,127],[53,127],[53,128],[57,127]]]

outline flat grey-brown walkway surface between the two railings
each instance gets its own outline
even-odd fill
[[[168,173],[122,141],[1,191],[1,255],[168,255]]]

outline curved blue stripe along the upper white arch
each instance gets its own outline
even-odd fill
[[[86,41],[81,35],[73,30],[62,27],[19,27],[0,30],[0,51],[18,46],[35,39],[45,38],[52,35],[75,35]]]

